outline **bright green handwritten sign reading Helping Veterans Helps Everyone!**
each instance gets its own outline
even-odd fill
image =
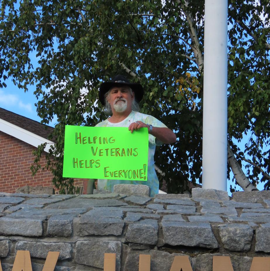
[[[148,129],[66,125],[63,177],[147,180]]]

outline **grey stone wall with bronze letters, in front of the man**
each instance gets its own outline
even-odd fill
[[[118,271],[137,271],[139,254],[151,255],[153,271],[169,271],[176,255],[189,256],[194,271],[212,271],[213,255],[230,256],[234,271],[270,257],[269,191],[150,198],[143,187],[131,196],[127,185],[115,194],[0,194],[3,271],[17,250],[30,251],[33,271],[48,251],[60,251],[58,271],[102,270],[104,253],[116,253]]]

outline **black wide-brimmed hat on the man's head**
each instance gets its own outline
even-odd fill
[[[143,99],[143,87],[138,83],[131,83],[123,75],[115,75],[109,82],[103,82],[99,87],[99,100],[103,105],[105,105],[104,96],[110,90],[110,88],[115,86],[129,86],[135,94],[135,100],[139,103]]]

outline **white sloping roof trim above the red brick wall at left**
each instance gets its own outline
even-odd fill
[[[0,118],[0,131],[18,138],[34,147],[38,147],[42,143],[54,143],[44,137],[40,137],[37,134],[29,132],[17,125],[14,125],[6,120]],[[47,144],[44,151],[49,152],[51,144]]]

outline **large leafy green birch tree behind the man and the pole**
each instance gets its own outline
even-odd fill
[[[265,180],[270,188],[269,9],[266,0],[229,1],[228,177],[232,170],[244,190]],[[168,191],[201,181],[203,1],[2,0],[0,16],[0,87],[8,77],[24,91],[36,85],[42,122],[57,117],[57,141],[47,155],[57,187],[72,184],[61,177],[65,125],[105,119],[96,103],[98,87],[117,73],[143,85],[141,112],[179,138],[155,155]],[[240,149],[233,139],[243,134],[251,136]]]

